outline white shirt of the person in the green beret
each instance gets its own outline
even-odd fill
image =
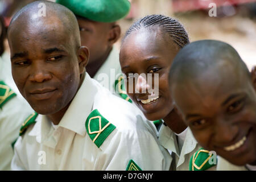
[[[113,46],[108,59],[106,59],[104,64],[102,64],[100,69],[98,69],[93,78],[100,82],[102,86],[109,89],[111,93],[119,97],[119,94],[115,93],[115,80],[117,80],[121,75],[122,71],[119,63],[119,52],[118,49]],[[108,80],[104,79],[105,76],[108,76]]]

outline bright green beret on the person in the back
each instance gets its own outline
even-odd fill
[[[75,15],[96,22],[115,22],[125,17],[130,10],[128,0],[56,0]]]

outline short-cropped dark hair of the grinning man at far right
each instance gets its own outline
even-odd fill
[[[194,78],[229,61],[240,74],[251,79],[249,69],[232,46],[218,40],[199,40],[182,48],[174,58],[169,72],[170,85]],[[217,74],[217,73],[216,73]]]

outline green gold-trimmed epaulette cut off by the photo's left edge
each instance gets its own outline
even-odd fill
[[[5,82],[0,81],[0,108],[2,108],[7,101],[15,96],[16,94],[13,92],[13,90],[11,90],[10,87],[5,84]]]

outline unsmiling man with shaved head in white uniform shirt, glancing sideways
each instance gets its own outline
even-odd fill
[[[38,4],[46,16],[38,16]],[[8,31],[13,77],[36,113],[15,144],[14,170],[165,170],[154,126],[85,72],[88,49],[66,7],[25,6]],[[38,114],[39,113],[39,114]]]

